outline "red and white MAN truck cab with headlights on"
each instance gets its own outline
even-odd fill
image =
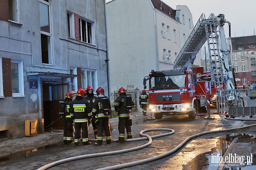
[[[189,118],[195,119],[197,78],[192,70],[152,71],[148,79],[149,109],[156,119],[161,119],[164,114],[188,114]]]

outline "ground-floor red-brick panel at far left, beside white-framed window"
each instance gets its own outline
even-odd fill
[[[5,97],[10,97],[13,95],[10,58],[2,58],[2,68],[3,68],[3,94]]]

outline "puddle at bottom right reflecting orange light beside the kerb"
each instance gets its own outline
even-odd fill
[[[217,170],[219,163],[215,163],[213,158],[218,160],[220,156],[224,156],[225,152],[227,151],[230,143],[238,137],[238,143],[255,143],[256,139],[255,135],[245,134],[245,133],[230,133],[226,136],[217,137],[217,146],[212,149],[210,152],[206,152],[204,154],[199,154],[193,160],[191,160],[187,165],[184,166],[184,169],[200,169],[200,170]],[[246,159],[246,158],[245,158]],[[212,162],[213,161],[213,162]],[[223,160],[225,162],[225,160]],[[246,160],[245,160],[246,161]],[[244,161],[244,162],[245,162]],[[217,161],[219,162],[219,161]],[[240,163],[236,163],[239,165]],[[223,170],[255,170],[256,169],[256,155],[252,155],[251,163],[248,165],[241,165],[243,167],[229,167],[225,166]],[[222,168],[222,167],[221,167]]]

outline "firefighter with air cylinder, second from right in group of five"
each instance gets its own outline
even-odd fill
[[[103,130],[105,130],[107,144],[111,144],[111,133],[109,128],[108,116],[111,112],[111,105],[108,97],[104,93],[104,89],[99,87],[96,90],[98,97],[92,104],[92,115],[96,118],[96,124],[98,129],[97,142],[94,145],[102,145]]]

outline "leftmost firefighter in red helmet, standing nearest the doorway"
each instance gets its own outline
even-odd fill
[[[72,92],[67,92],[65,103],[65,114],[64,114],[64,130],[63,130],[63,140],[64,144],[73,143],[73,116],[70,115],[70,105],[72,104]]]

